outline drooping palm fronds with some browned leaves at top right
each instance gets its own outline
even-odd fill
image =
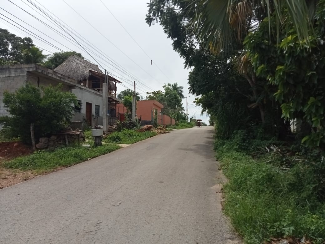
[[[188,0],[194,9],[195,32],[207,48],[223,49],[236,36],[241,42],[243,35],[256,27],[272,13],[280,25],[290,20],[300,40],[308,40],[318,0]]]

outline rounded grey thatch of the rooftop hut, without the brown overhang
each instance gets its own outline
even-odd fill
[[[90,76],[89,70],[103,73],[96,64],[83,60],[78,56],[70,56],[54,69],[54,71],[62,75],[80,81],[85,80]]]

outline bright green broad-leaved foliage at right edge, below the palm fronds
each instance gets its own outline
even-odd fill
[[[310,130],[303,142],[322,150],[325,150],[324,4],[324,0],[318,2],[308,39],[300,39],[294,20],[286,18],[286,25],[279,31],[281,41],[278,42],[275,34],[266,41],[269,23],[275,28],[274,13],[270,21],[261,22],[257,31],[250,33],[244,42],[256,75],[277,87],[274,96],[281,103],[282,116],[307,122]]]

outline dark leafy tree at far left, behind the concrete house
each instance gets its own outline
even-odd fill
[[[1,63],[22,63],[21,51],[33,46],[30,37],[21,38],[0,28],[0,62]]]

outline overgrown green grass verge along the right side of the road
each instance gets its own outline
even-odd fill
[[[255,159],[235,148],[232,141],[215,143],[217,159],[229,179],[224,211],[244,242],[307,237],[315,244],[325,243],[325,201],[315,192],[321,185],[319,170],[305,161],[284,168],[270,161],[272,155]]]

